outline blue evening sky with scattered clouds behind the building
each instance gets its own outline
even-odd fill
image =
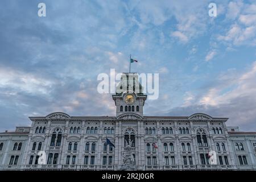
[[[253,0],[1,0],[0,131],[56,111],[114,116],[97,76],[128,72],[130,54],[131,72],[159,73],[159,98],[144,115],[205,113],[256,131]]]

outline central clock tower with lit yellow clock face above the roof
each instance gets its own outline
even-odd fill
[[[147,95],[143,94],[138,73],[123,73],[112,97],[115,101],[116,117],[131,113],[143,117],[143,106]]]

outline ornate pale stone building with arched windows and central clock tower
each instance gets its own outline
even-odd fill
[[[57,112],[29,117],[31,127],[0,133],[0,169],[256,169],[256,133],[201,113],[144,116],[147,96],[136,73],[123,73],[116,90],[115,117]],[[209,151],[216,151],[216,164],[209,163]]]

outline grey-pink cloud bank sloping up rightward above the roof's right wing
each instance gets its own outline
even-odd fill
[[[213,117],[228,117],[228,126],[241,126],[242,130],[255,131],[255,80],[256,61],[247,72],[232,70],[220,75],[204,94],[194,96],[193,93],[187,93],[183,106],[174,107],[165,115],[207,113]]]

